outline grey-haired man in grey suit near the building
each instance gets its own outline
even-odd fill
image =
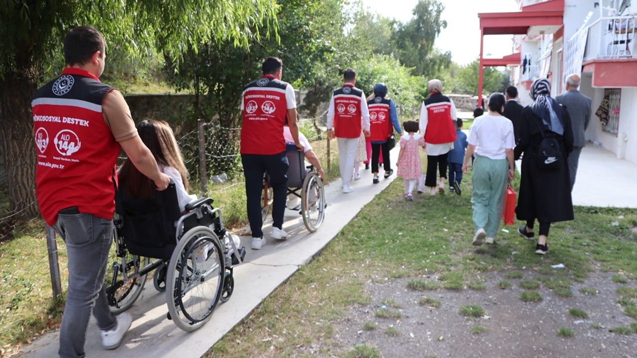
[[[555,97],[555,101],[565,106],[571,115],[573,126],[573,152],[568,155],[568,171],[571,175],[571,190],[575,185],[577,164],[580,161],[580,153],[585,145],[584,132],[590,122],[590,98],[578,90],[580,76],[573,74],[566,77],[566,90],[568,92]]]

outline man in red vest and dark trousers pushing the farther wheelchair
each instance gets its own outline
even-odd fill
[[[294,89],[281,80],[283,62],[277,57],[268,57],[263,61],[261,71],[261,78],[248,83],[241,94],[241,163],[254,250],[261,250],[267,243],[261,230],[261,192],[265,173],[268,173],[274,194],[270,237],[285,240],[288,236],[283,230],[289,166],[283,138],[286,116],[294,144],[303,150],[299,143]]]

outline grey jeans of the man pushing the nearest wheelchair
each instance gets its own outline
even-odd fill
[[[99,329],[110,331],[117,326],[104,290],[113,220],[87,213],[59,214],[53,228],[66,243],[69,271],[58,353],[64,358],[83,358],[91,311]]]

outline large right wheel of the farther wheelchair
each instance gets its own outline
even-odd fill
[[[301,190],[301,211],[303,224],[311,233],[317,231],[325,218],[325,203],[325,190],[320,176],[315,172],[308,173]]]

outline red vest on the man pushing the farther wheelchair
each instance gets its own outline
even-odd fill
[[[265,75],[243,88],[241,154],[285,152],[283,123],[287,115],[287,86],[275,76]]]

